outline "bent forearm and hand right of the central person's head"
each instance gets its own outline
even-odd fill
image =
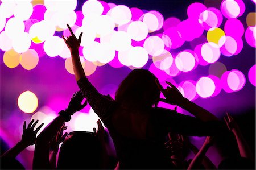
[[[187,98],[184,98],[179,90],[170,82],[166,81],[166,83],[170,86],[168,86],[167,89],[164,89],[163,86],[160,85],[160,82],[156,80],[156,84],[158,85],[160,91],[163,93],[164,97],[166,97],[166,99],[160,98],[160,101],[169,103],[171,105],[180,106],[204,122],[218,120],[218,118],[209,111],[189,101]]]

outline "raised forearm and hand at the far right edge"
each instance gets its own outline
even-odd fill
[[[226,113],[226,117],[224,117],[224,120],[226,122],[226,126],[228,126],[229,130],[232,131],[234,136],[236,137],[240,155],[242,157],[246,157],[247,159],[255,161],[253,159],[253,153],[251,152],[245,138],[243,138],[242,132],[234,118],[229,113]]]

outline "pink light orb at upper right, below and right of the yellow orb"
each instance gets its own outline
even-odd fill
[[[227,57],[233,56],[237,51],[237,42],[231,36],[226,36],[226,42],[220,49],[222,55]]]

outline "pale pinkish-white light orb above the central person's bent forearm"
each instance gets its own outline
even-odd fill
[[[202,98],[212,96],[215,89],[214,81],[209,77],[201,77],[196,83],[196,92]]]

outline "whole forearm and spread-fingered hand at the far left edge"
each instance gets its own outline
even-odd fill
[[[34,131],[34,128],[36,124],[38,123],[38,120],[35,121],[33,124],[34,119],[30,123],[28,123],[28,126],[26,128],[26,121],[24,121],[23,124],[23,134],[22,134],[22,140],[18,142],[13,148],[10,148],[10,150],[6,151],[1,158],[7,157],[7,158],[15,158],[20,152],[22,152],[26,147],[35,144],[36,141],[36,134],[40,130],[40,128],[44,125],[43,123],[36,128]]]

